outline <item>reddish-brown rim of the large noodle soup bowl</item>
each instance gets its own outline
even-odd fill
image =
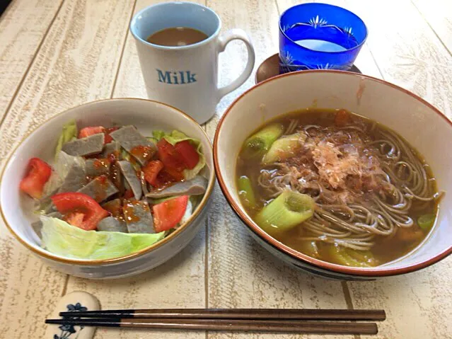
[[[216,172],[216,178],[219,181],[221,191],[224,193],[224,195],[226,197],[226,201],[231,206],[233,211],[238,215],[238,217],[241,219],[241,221],[251,231],[253,231],[253,233],[257,234],[257,236],[260,237],[260,239],[264,240],[271,246],[277,248],[279,251],[282,251],[284,254],[289,255],[291,258],[295,258],[296,260],[301,260],[301,262],[308,263],[309,265],[312,265],[314,267],[321,268],[323,270],[328,270],[331,272],[342,273],[344,275],[355,275],[355,276],[364,276],[364,277],[386,277],[386,276],[390,276],[390,275],[401,275],[401,274],[405,274],[405,273],[409,273],[409,272],[415,272],[417,270],[421,270],[422,268],[427,268],[428,266],[439,262],[439,260],[446,258],[448,255],[450,255],[452,253],[452,244],[451,244],[451,246],[446,248],[444,251],[442,251],[438,255],[435,255],[434,257],[423,261],[422,263],[405,265],[400,268],[385,268],[384,266],[382,266],[381,268],[379,268],[378,266],[376,268],[352,268],[352,267],[328,263],[323,260],[311,258],[310,256],[308,256],[306,254],[295,251],[294,249],[290,248],[289,246],[286,246],[283,243],[272,238],[272,236],[269,236],[267,233],[265,233],[265,231],[262,231],[262,229],[260,229],[260,227],[257,226],[257,224],[255,224],[255,222],[253,222],[253,220],[250,219],[250,217],[248,217],[248,215],[245,214],[245,212],[243,212],[242,207],[233,200],[233,198],[231,197],[231,194],[228,192],[228,190],[226,188],[226,184],[225,184],[224,178],[221,174],[219,163],[218,163],[219,154],[218,154],[218,150],[217,150],[217,145],[218,145],[218,140],[219,140],[219,133],[221,131],[221,127],[223,125],[224,120],[226,120],[226,117],[231,112],[231,109],[233,108],[233,106],[236,105],[236,103],[239,100],[241,100],[241,98],[243,98],[243,96],[248,94],[250,91],[253,91],[254,88],[267,84],[267,82],[284,78],[286,76],[296,76],[299,74],[311,74],[311,73],[315,73],[315,74],[337,73],[337,74],[345,74],[346,76],[359,76],[360,78],[364,77],[371,81],[376,81],[380,84],[390,86],[392,88],[395,88],[395,90],[402,91],[402,92],[406,93],[407,95],[412,96],[412,98],[415,98],[419,102],[421,102],[424,105],[426,105],[427,107],[431,108],[431,110],[433,110],[436,114],[441,116],[452,127],[451,120],[449,120],[448,117],[446,117],[446,115],[444,115],[444,113],[441,113],[441,111],[439,111],[436,107],[434,107],[434,105],[431,105],[431,103],[428,103],[426,100],[420,98],[415,93],[407,91],[405,88],[402,88],[395,84],[391,84],[388,81],[378,79],[373,76],[368,76],[368,75],[364,75],[364,74],[356,74],[356,73],[349,72],[349,71],[319,70],[319,69],[306,70],[306,71],[294,71],[291,73],[279,74],[278,76],[274,76],[270,79],[266,79],[264,81],[261,81],[258,84],[255,84],[253,87],[249,88],[247,91],[243,92],[240,96],[238,96],[236,98],[236,100],[234,100],[233,103],[231,103],[231,105],[228,106],[228,108],[224,112],[223,116],[221,117],[221,119],[218,123],[218,126],[216,127],[216,132],[215,132],[215,137],[214,137],[214,167],[215,167],[215,172]]]

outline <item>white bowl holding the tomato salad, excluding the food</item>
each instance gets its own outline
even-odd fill
[[[46,251],[30,226],[37,220],[33,214],[33,199],[21,193],[19,183],[28,160],[39,157],[52,165],[54,149],[62,126],[69,120],[79,126],[134,125],[143,135],[153,130],[179,130],[189,137],[199,139],[206,157],[209,183],[206,193],[192,216],[166,238],[127,256],[105,260],[78,260],[63,258]],[[150,270],[166,262],[182,250],[204,225],[211,202],[215,174],[211,143],[202,128],[180,110],[151,100],[124,98],[100,100],[66,110],[31,132],[13,151],[0,178],[0,212],[11,233],[23,246],[41,258],[47,265],[61,272],[91,279],[127,277]]]

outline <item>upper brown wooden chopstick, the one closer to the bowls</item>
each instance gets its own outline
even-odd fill
[[[381,309],[119,309],[61,312],[60,316],[85,318],[173,318],[173,319],[310,319],[383,321]]]

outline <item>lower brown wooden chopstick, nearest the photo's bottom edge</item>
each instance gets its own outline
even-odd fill
[[[77,312],[79,313],[79,312]],[[47,319],[46,323],[73,326],[118,328],[148,328],[157,330],[322,333],[322,334],[376,334],[376,323],[345,323],[332,321],[284,321],[238,319],[137,319],[137,318],[65,318]]]

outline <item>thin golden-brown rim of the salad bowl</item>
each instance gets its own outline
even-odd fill
[[[202,131],[202,134],[204,134],[204,136],[207,139],[207,143],[212,148],[212,144],[210,142],[209,136],[202,129],[202,127],[192,117],[190,117],[190,115],[187,115],[186,113],[182,112],[182,110],[179,110],[178,108],[175,108],[175,107],[173,107],[171,105],[168,105],[166,103],[161,103],[161,102],[156,101],[156,100],[149,100],[149,99],[143,99],[143,98],[110,98],[110,99],[95,100],[95,101],[91,101],[89,103],[83,103],[82,105],[77,105],[77,106],[74,106],[74,107],[69,108],[67,110],[64,110],[63,112],[58,113],[57,115],[54,115],[53,117],[50,117],[49,119],[47,119],[45,122],[43,122],[38,127],[36,127],[33,131],[29,132],[28,134],[25,134],[25,137],[23,137],[23,139],[21,139],[21,142],[19,142],[19,144],[16,147],[14,147],[13,151],[11,151],[11,153],[8,156],[8,159],[6,160],[6,163],[4,165],[3,171],[1,171],[1,175],[0,175],[0,187],[1,187],[1,183],[3,181],[4,173],[6,171],[6,167],[8,166],[9,161],[11,161],[11,157],[14,154],[16,154],[16,151],[17,151],[18,147],[21,146],[21,144],[25,141],[25,139],[27,139],[31,134],[33,134],[40,127],[42,127],[43,125],[47,124],[47,122],[50,122],[50,120],[54,119],[55,117],[58,117],[59,115],[63,115],[66,112],[68,112],[69,110],[73,110],[74,108],[79,108],[81,106],[95,105],[96,103],[101,103],[101,102],[104,102],[104,101],[120,101],[120,100],[144,100],[144,101],[148,101],[150,103],[157,103],[159,105],[167,106],[168,108],[172,108],[173,110],[176,110],[178,113],[184,115],[189,120],[192,120],[192,122],[195,122],[195,124],[197,125],[197,128],[199,128],[199,130]],[[204,207],[207,205],[207,200],[209,200],[209,198],[211,196],[211,193],[214,190],[214,185],[215,185],[215,171],[214,171],[214,168],[210,168],[209,184],[207,185],[206,193],[204,193],[204,196],[202,197],[201,202],[199,202],[198,207],[195,209],[195,212],[192,213],[192,215],[187,220],[187,222],[182,224],[178,229],[176,229],[173,233],[171,233],[168,236],[166,236],[165,238],[163,238],[161,241],[158,241],[157,243],[154,243],[153,245],[151,245],[149,247],[143,248],[142,250],[137,251],[135,253],[131,253],[129,255],[124,255],[122,257],[111,258],[111,259],[81,260],[81,259],[62,258],[62,257],[54,255],[54,254],[52,254],[52,253],[50,253],[48,251],[45,251],[43,248],[35,248],[33,246],[30,246],[23,239],[21,239],[21,237],[18,236],[18,234],[16,234],[15,231],[13,231],[13,229],[11,228],[11,225],[8,224],[8,221],[6,220],[6,217],[5,217],[4,212],[3,212],[3,207],[1,206],[1,202],[0,202],[0,214],[1,214],[1,218],[5,222],[6,228],[11,232],[11,234],[13,234],[13,236],[20,243],[22,243],[23,246],[25,246],[30,251],[33,251],[37,255],[40,255],[40,256],[42,256],[42,257],[44,257],[46,259],[54,260],[54,261],[57,261],[59,263],[73,264],[73,265],[96,265],[96,266],[98,266],[98,265],[105,265],[105,264],[115,264],[115,263],[121,263],[122,261],[126,261],[126,260],[129,260],[129,259],[132,259],[132,258],[137,258],[137,257],[139,257],[141,255],[149,253],[149,252],[153,251],[155,248],[158,248],[160,246],[163,246],[165,243],[168,243],[168,241],[170,241],[171,239],[174,239],[176,236],[178,236],[178,234],[182,233],[182,231],[187,229],[187,227],[190,226],[190,224],[192,224],[192,222],[202,212],[202,209],[204,209]]]

